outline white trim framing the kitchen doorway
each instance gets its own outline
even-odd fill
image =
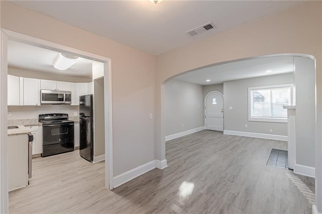
[[[112,123],[112,67],[111,59],[86,51],[70,48],[32,36],[0,29],[0,213],[9,212],[8,169],[7,169],[7,75],[8,75],[8,40],[46,48],[54,51],[65,51],[76,56],[104,63],[104,104],[105,104],[105,188],[113,189],[113,123]]]

